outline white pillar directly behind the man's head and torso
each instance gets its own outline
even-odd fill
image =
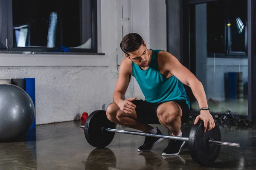
[[[148,49],[167,49],[165,0],[132,0],[132,31],[140,34]],[[134,96],[145,99],[133,78]]]

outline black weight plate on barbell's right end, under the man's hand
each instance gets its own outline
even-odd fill
[[[221,131],[217,124],[206,133],[203,121],[193,125],[189,133],[189,153],[196,163],[204,166],[213,164],[221,149],[219,145],[209,146],[209,139],[221,141]]]

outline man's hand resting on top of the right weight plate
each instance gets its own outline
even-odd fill
[[[194,125],[198,123],[199,119],[204,121],[204,133],[215,127],[215,122],[212,118],[212,115],[210,114],[210,112],[208,110],[201,111],[200,115],[198,115],[195,118]]]

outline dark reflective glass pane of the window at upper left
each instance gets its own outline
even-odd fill
[[[12,0],[14,47],[91,48],[90,0]]]

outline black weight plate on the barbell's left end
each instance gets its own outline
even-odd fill
[[[116,124],[108,120],[106,111],[98,110],[90,113],[84,124],[84,136],[93,147],[106,147],[115,136],[113,132],[102,131],[102,127],[115,129]]]

